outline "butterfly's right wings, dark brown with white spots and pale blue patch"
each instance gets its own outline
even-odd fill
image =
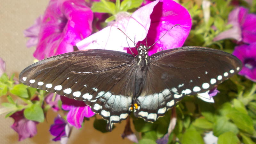
[[[204,47],[181,47],[150,56],[134,115],[155,121],[185,95],[211,90],[235,75],[241,61],[232,54]]]

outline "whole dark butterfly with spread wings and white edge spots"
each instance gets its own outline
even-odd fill
[[[242,68],[235,56],[204,47],[180,47],[148,56],[110,50],[69,52],[20,73],[23,84],[83,100],[108,120],[108,130],[129,116],[154,122],[185,95],[211,90]]]

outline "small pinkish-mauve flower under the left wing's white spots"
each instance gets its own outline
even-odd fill
[[[54,96],[55,95],[55,96]],[[54,111],[59,111],[60,108],[58,107],[58,101],[60,100],[60,95],[56,93],[50,93],[48,96],[45,98],[45,102],[51,106],[51,108]]]

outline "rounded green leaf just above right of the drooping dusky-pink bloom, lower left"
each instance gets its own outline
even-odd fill
[[[33,104],[24,110],[24,116],[32,121],[44,122],[44,111],[38,104]]]

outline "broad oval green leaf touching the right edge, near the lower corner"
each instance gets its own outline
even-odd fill
[[[252,118],[244,113],[239,112],[238,110],[232,110],[227,115],[235,124],[236,126],[243,130],[244,132],[247,132],[249,134],[254,133]]]

